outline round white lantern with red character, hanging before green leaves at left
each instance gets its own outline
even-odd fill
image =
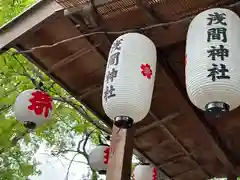
[[[52,117],[53,101],[44,91],[31,89],[22,92],[14,104],[16,119],[26,128],[34,129]]]

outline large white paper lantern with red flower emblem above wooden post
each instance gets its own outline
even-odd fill
[[[139,33],[118,37],[109,52],[102,104],[118,127],[129,128],[149,112],[157,54],[153,42]]]

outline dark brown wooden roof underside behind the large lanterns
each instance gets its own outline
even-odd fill
[[[188,17],[211,7],[229,7],[236,1],[67,2],[70,1],[61,0],[59,3],[68,11],[59,10],[54,2],[48,3],[52,11],[58,11],[49,13],[51,18],[29,26],[31,30],[24,30],[22,34],[18,32],[12,42],[6,42],[7,47],[26,50],[98,30],[122,31],[175,21],[144,31],[158,47],[158,67],[151,111],[137,124],[135,147],[171,179],[203,180],[231,173],[240,175],[240,109],[217,121],[206,119],[189,102],[184,82],[185,39],[191,19]],[[239,3],[230,7],[240,14]],[[14,28],[1,32],[0,37],[12,37],[9,33]],[[111,125],[101,105],[101,94],[108,51],[117,36],[108,33],[92,35],[27,55]]]

